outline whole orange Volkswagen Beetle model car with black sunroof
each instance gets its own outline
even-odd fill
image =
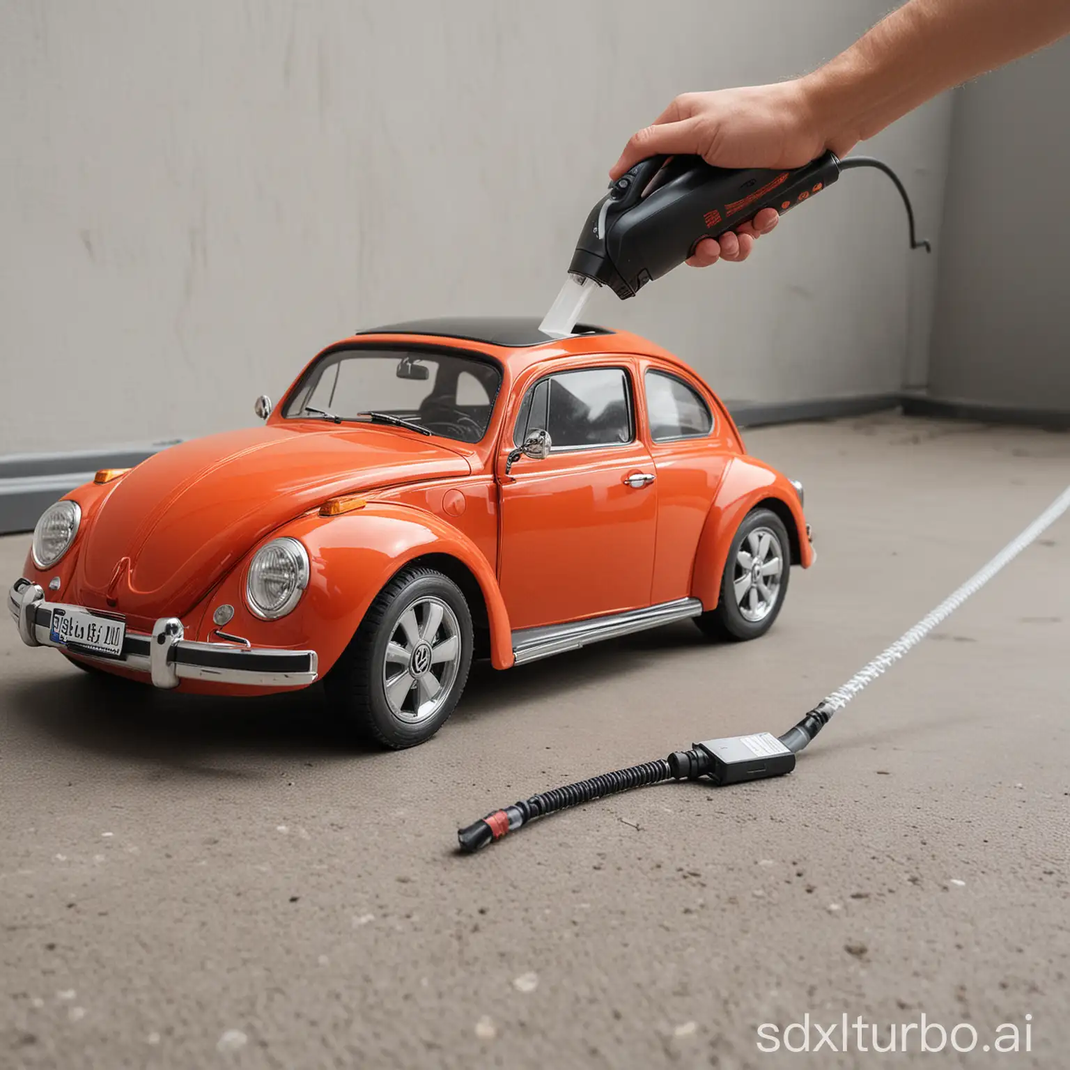
[[[684,617],[753,639],[813,561],[801,486],[630,334],[380,327],[271,409],[48,508],[9,595],[24,642],[182,691],[322,677],[365,735],[408,747],[473,656],[508,669]]]

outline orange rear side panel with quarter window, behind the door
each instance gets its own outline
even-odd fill
[[[643,395],[658,484],[653,603],[686,598],[714,495],[724,476],[728,429],[697,383],[673,368],[646,365]]]

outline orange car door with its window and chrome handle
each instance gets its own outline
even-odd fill
[[[514,629],[649,605],[657,485],[633,367],[562,368],[528,387],[499,458],[499,583]],[[549,456],[505,458],[533,430]]]

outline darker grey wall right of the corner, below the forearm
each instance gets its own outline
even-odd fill
[[[1070,412],[1070,39],[959,93],[930,395]]]

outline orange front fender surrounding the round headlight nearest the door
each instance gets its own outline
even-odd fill
[[[245,601],[245,577],[253,552],[288,535],[308,551],[309,579],[297,608],[277,621],[261,621]],[[391,577],[417,557],[446,554],[475,578],[487,608],[491,663],[513,664],[508,612],[490,563],[462,532],[426,509],[368,502],[339,516],[305,514],[276,529],[247,554],[200,607],[200,631],[211,630],[212,607],[228,603],[234,616],[226,631],[254,646],[312,647],[323,675],[345,651],[364,614]]]

